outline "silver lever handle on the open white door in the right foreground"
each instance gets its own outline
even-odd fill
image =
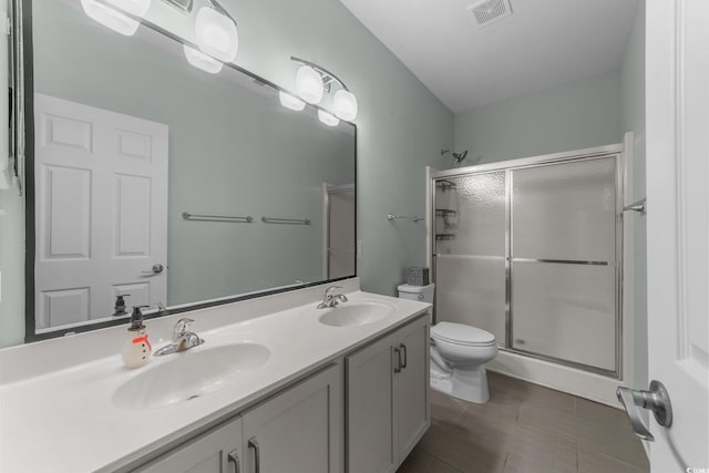
[[[669,394],[665,385],[656,380],[650,382],[649,391],[640,391],[630,388],[618,388],[616,390],[618,400],[623,403],[630,425],[637,436],[649,442],[655,441],[655,436],[643,423],[640,419],[640,410],[649,409],[655,414],[655,420],[664,428],[672,425],[672,404],[669,401]]]

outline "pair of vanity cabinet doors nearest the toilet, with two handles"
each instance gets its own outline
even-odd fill
[[[395,472],[431,424],[429,316],[346,358],[347,472]]]

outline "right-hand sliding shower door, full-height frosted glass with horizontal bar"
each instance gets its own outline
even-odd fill
[[[616,167],[511,171],[511,348],[617,371]]]

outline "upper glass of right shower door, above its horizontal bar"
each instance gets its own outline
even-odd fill
[[[615,261],[615,158],[512,173],[515,258]]]

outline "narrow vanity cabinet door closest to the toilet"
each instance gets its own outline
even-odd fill
[[[431,425],[429,407],[429,318],[423,317],[397,332],[401,372],[397,374],[397,446],[407,457]]]

